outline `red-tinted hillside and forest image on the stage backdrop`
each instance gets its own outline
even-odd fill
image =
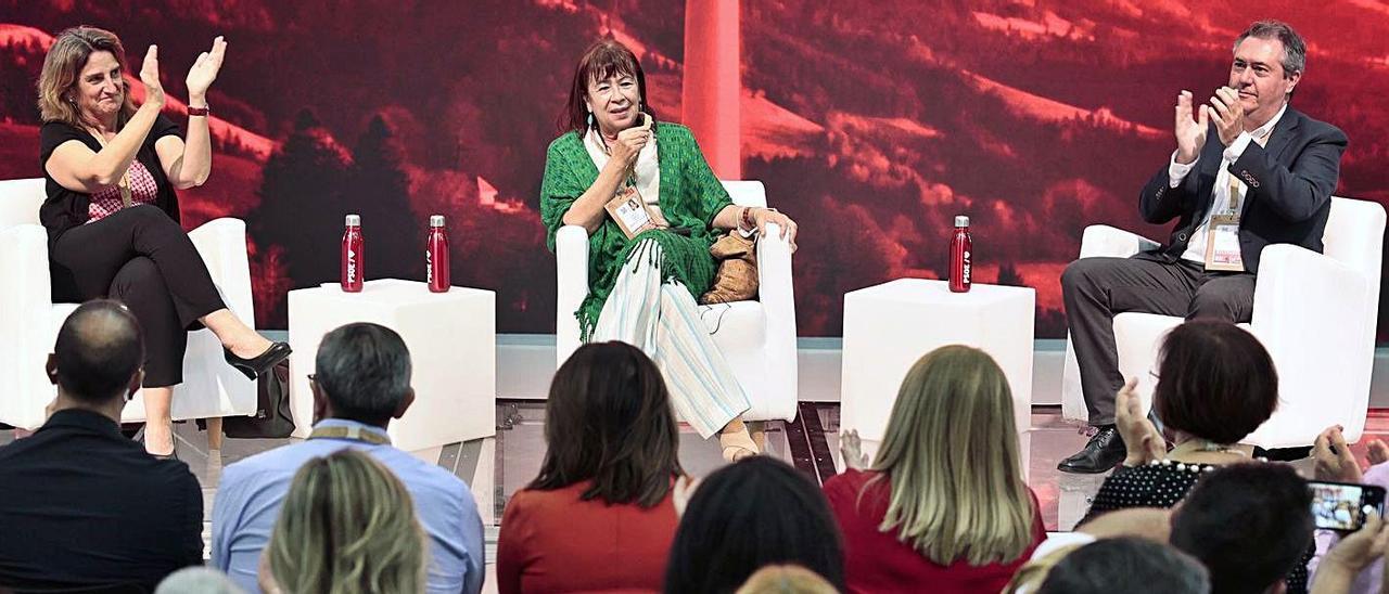
[[[679,1],[0,7],[0,179],[42,175],[33,85],[58,31],[108,28],[136,65],[158,43],[178,122],[189,64],[226,36],[213,178],[181,201],[188,228],[247,221],[261,328],[285,328],[290,289],[338,279],[343,214],[363,215],[368,279],[422,279],[443,214],[454,285],[497,291],[499,332],[551,333],[538,196],[583,47],[629,44],[657,118],[681,119]],[[1174,97],[1224,85],[1231,42],[1265,17],[1308,40],[1293,105],[1350,136],[1338,194],[1389,201],[1383,3],[745,1],[743,176],[800,223],[800,334],[839,336],[846,291],[943,278],[968,214],[975,280],[1036,287],[1038,336],[1064,336],[1081,232],[1167,237],[1136,196],[1172,150]]]

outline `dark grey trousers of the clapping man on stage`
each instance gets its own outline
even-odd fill
[[[1254,275],[1206,272],[1199,262],[1139,254],[1081,258],[1061,273],[1065,325],[1081,366],[1090,425],[1114,423],[1114,393],[1124,387],[1114,315],[1126,311],[1249,322]]]

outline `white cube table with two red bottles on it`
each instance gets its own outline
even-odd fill
[[[415,402],[390,422],[392,444],[406,451],[436,448],[496,434],[496,293],[379,279],[361,293],[338,283],[289,291],[290,411],[294,436],[307,437],[314,415],[308,375],[329,330],[372,322],[396,330],[410,348]]]

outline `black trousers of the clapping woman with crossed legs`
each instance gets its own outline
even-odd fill
[[[226,307],[183,228],[149,204],[68,229],[49,260],[54,301],[107,297],[140,321],[144,387],[182,383],[188,330]]]

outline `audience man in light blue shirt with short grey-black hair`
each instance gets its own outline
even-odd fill
[[[258,591],[261,550],[299,468],[311,458],[358,448],[390,469],[414,498],[429,537],[429,593],[482,590],[482,519],[457,476],[390,446],[386,425],[414,402],[410,351],[400,334],[349,323],[324,336],[315,358],[314,432],[300,444],[261,452],[222,470],[213,507],[213,565]]]

